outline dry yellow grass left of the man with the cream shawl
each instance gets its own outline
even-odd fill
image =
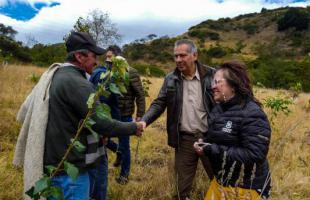
[[[8,65],[0,68],[0,199],[22,197],[22,170],[12,165],[14,146],[20,125],[15,117],[34,83],[31,74],[44,69],[33,66]]]

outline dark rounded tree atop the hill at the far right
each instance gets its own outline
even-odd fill
[[[310,22],[310,15],[300,8],[289,8],[283,17],[278,20],[278,31],[294,27],[298,31],[307,30]]]

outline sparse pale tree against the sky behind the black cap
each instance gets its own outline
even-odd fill
[[[79,17],[72,31],[89,33],[103,47],[121,41],[116,24],[112,23],[108,13],[98,9],[91,11],[86,18]]]

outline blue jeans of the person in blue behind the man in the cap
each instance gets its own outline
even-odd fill
[[[100,158],[100,165],[88,171],[90,179],[89,196],[96,200],[105,200],[108,189],[108,157]]]

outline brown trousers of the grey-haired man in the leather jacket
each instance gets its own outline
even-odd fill
[[[198,137],[193,134],[181,134],[179,148],[175,150],[175,173],[177,195],[175,199],[186,199],[191,192],[195,178],[198,160],[200,159],[210,180],[213,179],[213,172],[210,161],[206,156],[198,156],[193,144]]]

